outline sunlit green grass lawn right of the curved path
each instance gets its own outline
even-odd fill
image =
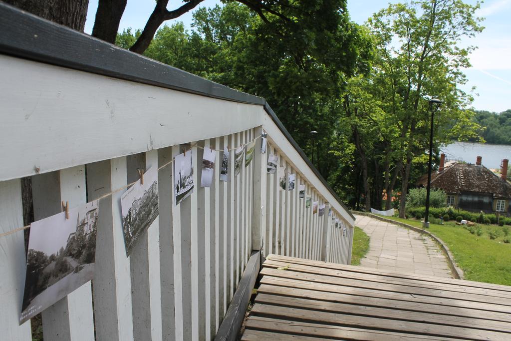
[[[422,228],[422,223],[416,219],[385,218]],[[511,285],[511,244],[502,241],[504,237],[500,226],[479,226],[483,230],[481,236],[471,234],[451,221],[444,225],[430,224],[428,231],[446,243],[456,264],[463,270],[465,279]],[[492,240],[489,238],[490,231],[498,231],[501,236]]]

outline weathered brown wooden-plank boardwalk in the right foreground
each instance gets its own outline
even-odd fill
[[[511,340],[511,287],[270,255],[242,340]]]

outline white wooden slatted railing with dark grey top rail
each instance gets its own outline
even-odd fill
[[[18,325],[25,281],[20,178],[32,178],[36,220],[99,202],[94,280],[42,313],[45,340],[211,339],[252,250],[350,263],[354,218],[264,99],[162,65],[0,4],[0,332]],[[261,153],[263,130],[268,150]],[[172,167],[158,172],[159,217],[126,256],[120,197],[137,169],[192,148],[257,139],[254,160],[211,188],[172,202]],[[266,171],[278,154],[296,188]],[[230,163],[234,163],[231,152]],[[231,168],[232,170],[232,168]],[[327,204],[319,217],[298,197]],[[331,209],[331,215],[329,215]],[[339,228],[335,228],[338,219]],[[94,293],[94,294],[92,294]],[[93,309],[94,307],[94,309]]]

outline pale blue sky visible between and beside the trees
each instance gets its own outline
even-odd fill
[[[397,2],[390,1],[390,3]],[[466,0],[466,2],[474,4],[475,0]],[[154,8],[154,3],[154,0],[128,0],[119,30],[122,31],[128,27],[142,29]],[[176,1],[170,3],[180,4]],[[216,4],[220,4],[220,1],[205,0],[200,7],[213,7]],[[386,7],[387,4],[388,1],[382,0],[348,0],[348,10],[355,22],[363,24],[369,16]],[[97,7],[97,0],[89,1],[89,12],[85,22],[86,33],[92,32]],[[170,6],[169,9],[171,9]],[[476,86],[473,92],[475,97],[473,105],[476,109],[497,112],[511,109],[511,20],[509,19],[511,0],[487,0],[482,4],[478,15],[485,17],[483,22],[485,29],[477,37],[462,42],[464,45],[477,46],[478,49],[471,55],[472,67],[464,70],[469,83],[461,88],[471,92],[472,86]],[[185,26],[190,27],[192,13],[188,12],[167,23],[172,24],[173,21],[182,21]]]

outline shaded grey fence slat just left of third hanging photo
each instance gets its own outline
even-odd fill
[[[161,282],[161,331],[164,340],[176,335],[175,289],[174,289],[174,242],[173,242],[173,195],[172,147],[158,149],[158,213],[159,213],[159,266]]]

